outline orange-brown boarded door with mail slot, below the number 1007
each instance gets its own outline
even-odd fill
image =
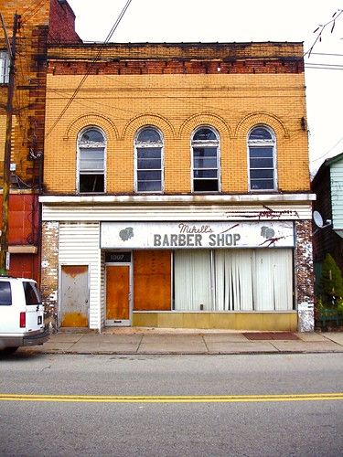
[[[130,266],[106,267],[106,324],[130,324]]]

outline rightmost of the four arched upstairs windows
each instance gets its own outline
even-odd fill
[[[275,134],[267,127],[254,127],[248,137],[249,187],[252,191],[276,190]]]

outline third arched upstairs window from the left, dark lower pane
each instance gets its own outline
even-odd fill
[[[192,137],[192,174],[194,192],[220,190],[219,135],[209,127],[200,127]]]

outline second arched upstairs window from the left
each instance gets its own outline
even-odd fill
[[[163,139],[154,127],[145,127],[135,138],[136,192],[163,191]]]

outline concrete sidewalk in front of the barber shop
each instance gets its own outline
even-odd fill
[[[40,346],[44,354],[278,354],[343,353],[343,333],[234,332],[155,328],[106,329],[102,334],[59,332]]]

